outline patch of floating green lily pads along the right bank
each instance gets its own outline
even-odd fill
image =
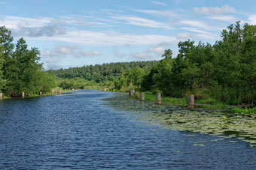
[[[172,104],[157,105],[151,101],[152,97],[146,97],[146,102],[134,100],[124,94],[106,99],[115,109],[137,112],[139,120],[147,124],[161,124],[171,130],[188,131],[194,133],[218,136],[219,140],[230,138],[240,139],[256,147],[256,117],[241,114],[224,113],[220,109],[194,108],[187,109],[184,99],[181,103],[177,100],[164,100]],[[149,96],[149,95],[148,95]],[[183,103],[182,103],[183,102]],[[166,102],[168,103],[168,102]],[[213,141],[218,142],[218,140]]]

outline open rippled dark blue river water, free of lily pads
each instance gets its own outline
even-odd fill
[[[256,169],[248,143],[136,121],[105,105],[112,95],[0,101],[0,169]]]

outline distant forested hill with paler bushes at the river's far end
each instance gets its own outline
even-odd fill
[[[61,78],[58,84],[64,89],[83,89],[93,85],[128,88],[131,83],[132,85],[139,85],[145,71],[149,72],[153,65],[159,63],[160,61],[118,62],[52,71],[57,77]],[[135,77],[136,81],[133,81]]]

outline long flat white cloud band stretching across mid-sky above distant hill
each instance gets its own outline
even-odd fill
[[[33,37],[28,37],[33,39]],[[53,37],[37,37],[36,40],[53,40],[66,43],[79,43],[87,46],[119,46],[119,45],[153,45],[161,42],[176,42],[175,37],[157,34],[118,34],[116,32],[100,32],[73,30]]]

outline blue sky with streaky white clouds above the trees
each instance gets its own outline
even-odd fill
[[[38,47],[44,68],[160,60],[187,39],[215,43],[227,25],[256,24],[254,0],[0,0],[0,26]]]

